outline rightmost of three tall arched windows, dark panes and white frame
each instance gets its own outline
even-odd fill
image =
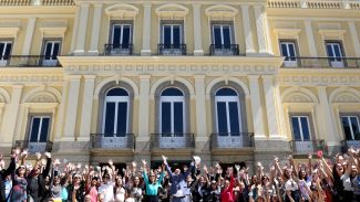
[[[237,93],[228,87],[218,89],[215,94],[215,110],[219,136],[239,136],[241,118]]]

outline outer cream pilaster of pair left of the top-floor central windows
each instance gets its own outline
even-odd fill
[[[76,49],[74,54],[84,54],[85,53],[85,40],[86,40],[86,29],[88,29],[88,15],[89,15],[89,3],[80,4],[80,19],[79,19],[79,29],[78,29],[78,40]]]

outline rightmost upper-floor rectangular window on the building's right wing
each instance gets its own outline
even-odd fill
[[[331,67],[343,67],[343,53],[340,42],[327,42],[326,49],[329,57],[329,63]]]

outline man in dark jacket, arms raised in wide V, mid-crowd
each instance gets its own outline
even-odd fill
[[[196,159],[197,161],[199,161],[198,159]],[[164,164],[166,167],[167,173],[169,176],[169,180],[171,180],[171,195],[172,202],[187,202],[186,201],[186,195],[189,195],[189,189],[187,189],[187,184],[185,182],[186,178],[191,174],[194,166],[195,166],[195,159],[193,159],[189,168],[186,170],[185,173],[181,173],[179,169],[176,169],[175,172],[172,172],[172,169],[168,167],[166,157],[163,156],[163,161]]]

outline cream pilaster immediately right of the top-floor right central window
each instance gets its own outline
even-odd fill
[[[249,18],[249,6],[241,4],[243,31],[245,35],[246,55],[255,53],[253,44],[251,22]]]

